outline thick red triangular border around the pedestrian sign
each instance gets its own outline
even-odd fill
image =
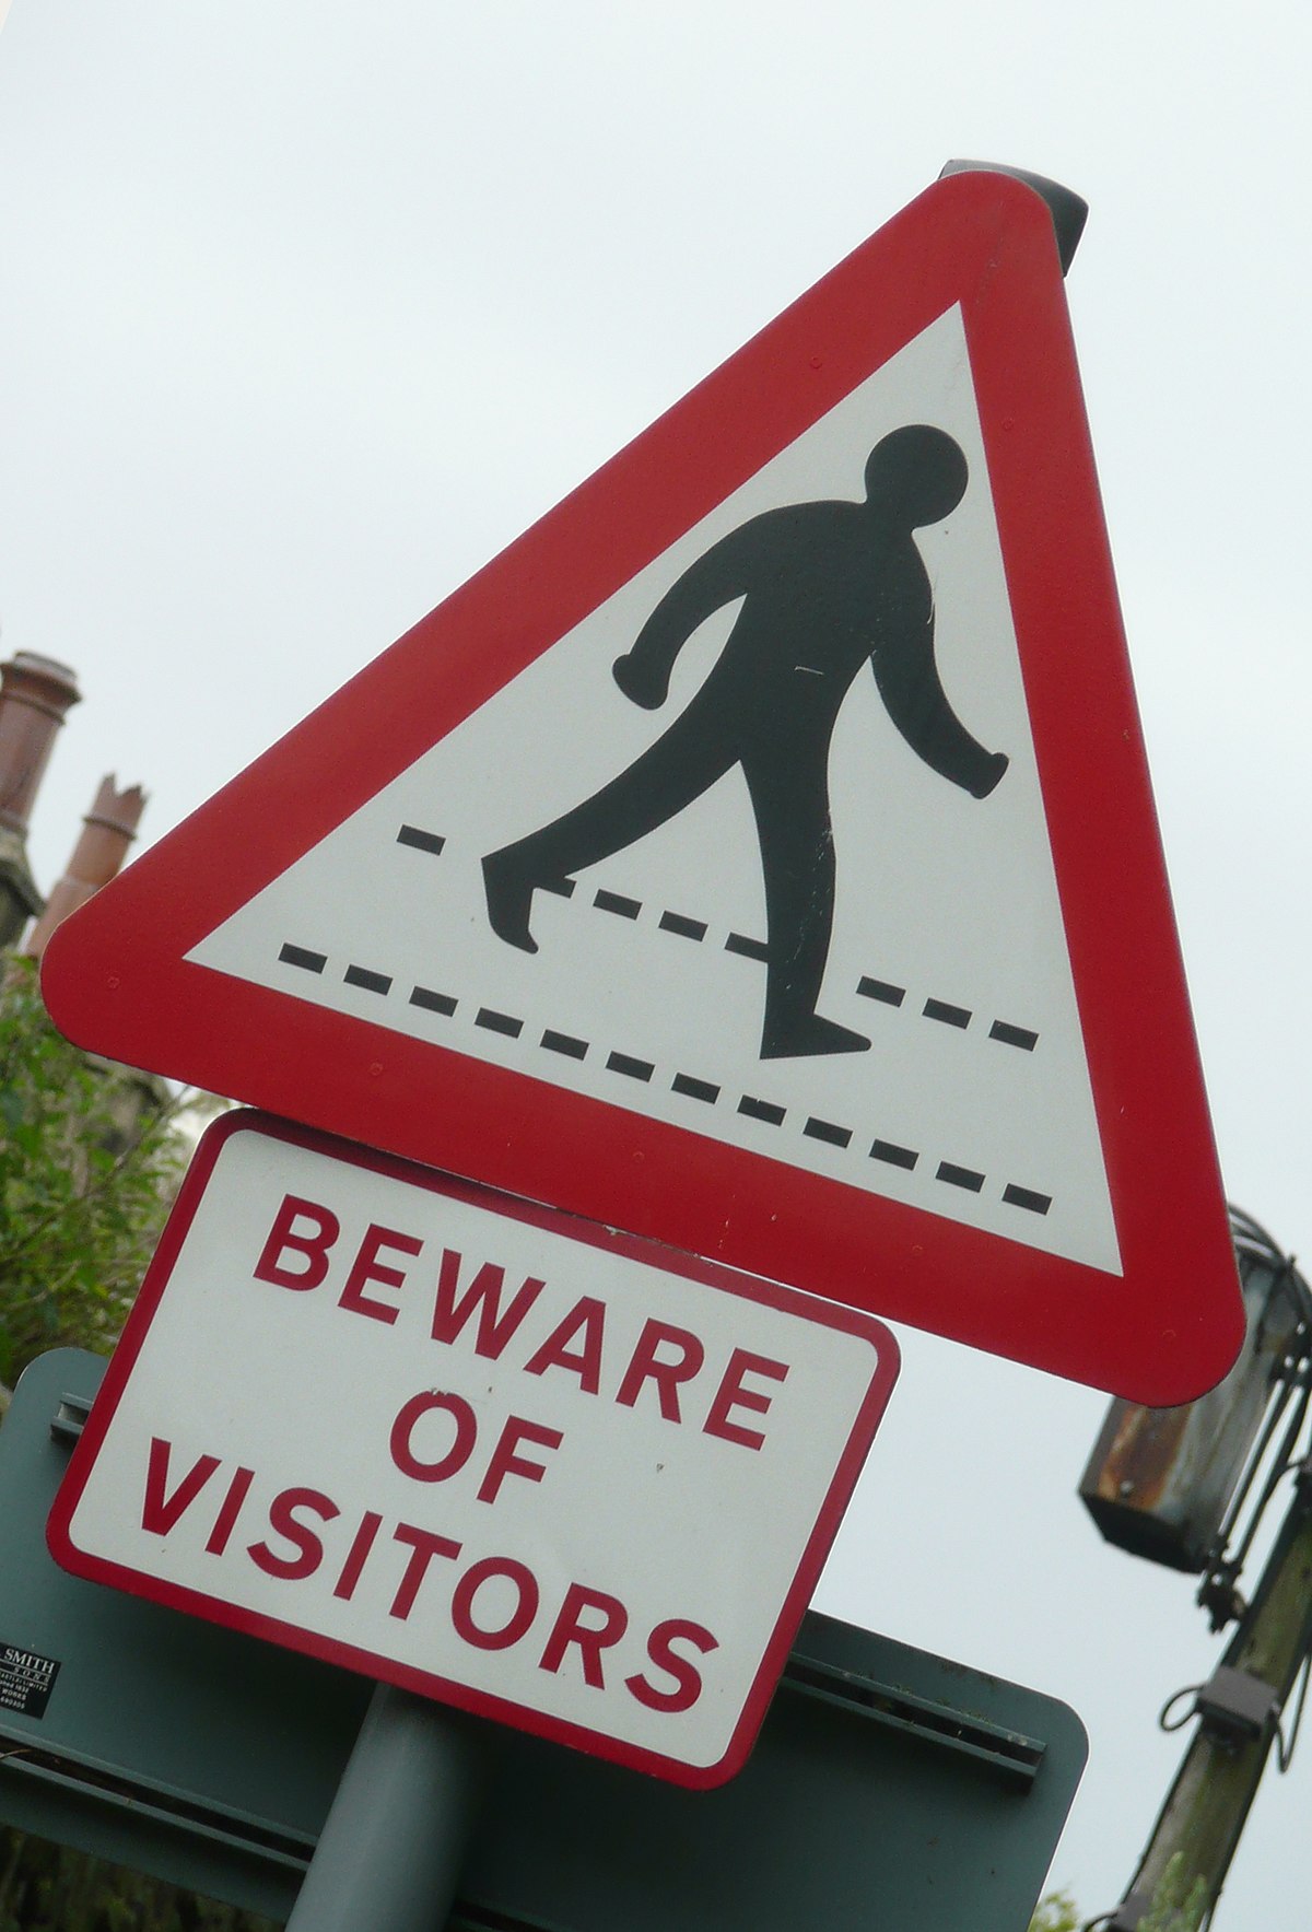
[[[187,964],[955,303],[1123,1275]],[[129,1065],[1142,1403],[1215,1383],[1237,1273],[1045,203],[991,172],[929,187],[66,922],[43,983]]]

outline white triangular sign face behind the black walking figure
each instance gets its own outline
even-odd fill
[[[887,591],[910,597],[920,582],[929,599],[937,678],[962,732],[943,726],[955,779],[947,753],[912,746],[910,717],[895,723],[868,651],[841,672],[829,663],[823,618],[813,636],[802,626],[806,645],[788,638],[815,659],[810,686],[835,690],[813,719],[810,688],[775,692],[757,659],[742,659],[742,676],[730,663],[730,638],[740,653],[773,649],[754,634],[742,643],[756,605],[754,591],[746,605],[730,595],[732,545],[759,535],[771,587],[786,551],[773,520],[856,518],[871,450],[908,423],[933,425],[966,479],[953,508],[926,508],[918,562],[900,560]],[[626,694],[616,661],[715,558],[701,599],[713,609],[669,694],[659,670],[651,690]],[[918,692],[916,705],[931,701]],[[781,773],[794,790],[777,808]],[[771,866],[783,877],[800,864],[781,846],[806,819],[808,786],[833,877],[817,877],[808,848],[794,933],[783,887],[767,920],[767,885]],[[531,898],[499,889],[489,856],[518,866]],[[796,1016],[771,1022],[767,937],[781,956],[806,952],[821,898],[831,925],[812,993],[821,1024],[868,1051],[835,1049]],[[189,958],[1119,1275],[960,307]]]

